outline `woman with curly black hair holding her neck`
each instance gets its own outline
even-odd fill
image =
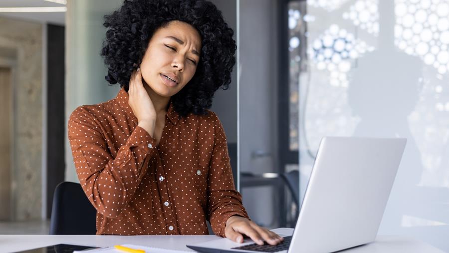
[[[102,56],[115,99],[78,107],[68,138],[97,210],[98,235],[282,238],[249,220],[235,190],[223,126],[211,107],[227,88],[235,41],[206,0],[125,0],[105,16]]]

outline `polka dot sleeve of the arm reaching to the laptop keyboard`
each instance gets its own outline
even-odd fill
[[[249,217],[242,205],[240,193],[235,190],[225,131],[217,115],[210,113],[215,118],[215,142],[208,176],[208,213],[214,233],[225,237],[229,217]]]

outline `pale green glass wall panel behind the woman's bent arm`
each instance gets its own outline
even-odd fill
[[[106,36],[103,16],[118,8],[123,0],[68,0],[66,12],[66,89],[65,118],[76,107],[97,104],[114,98],[120,87],[110,86],[100,56]],[[65,134],[65,137],[67,134]],[[78,182],[72,152],[65,139],[65,180]]]

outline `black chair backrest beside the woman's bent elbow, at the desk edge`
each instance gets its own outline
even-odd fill
[[[80,184],[62,182],[54,190],[49,234],[95,235],[96,214]]]

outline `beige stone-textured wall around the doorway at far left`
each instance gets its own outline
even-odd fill
[[[42,24],[0,17],[0,58],[15,60],[12,83],[13,215],[41,217]],[[14,52],[2,55],[2,52]]]

